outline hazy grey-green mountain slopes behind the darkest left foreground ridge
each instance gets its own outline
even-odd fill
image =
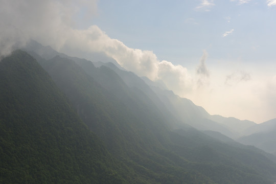
[[[127,83],[110,67],[84,59],[35,57],[111,155],[135,173],[129,183],[274,181],[275,163],[256,148],[223,143],[188,125],[172,131],[167,115],[180,122],[156,105],[158,96],[148,95],[154,92],[140,78],[131,86],[132,78]]]

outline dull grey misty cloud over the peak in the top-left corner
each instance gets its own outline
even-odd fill
[[[72,32],[78,10],[92,16],[97,0],[0,0],[0,55],[7,55],[16,45],[35,39],[60,49]]]

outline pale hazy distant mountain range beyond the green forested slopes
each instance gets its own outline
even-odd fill
[[[178,123],[172,125],[174,128],[190,125],[216,138],[219,135],[216,132],[219,132],[231,138],[226,140],[236,140],[245,145],[254,145],[276,155],[276,119],[256,124],[252,121],[239,120],[233,117],[225,118],[219,115],[210,115],[204,108],[195,105],[191,100],[175,95],[163,83],[153,82],[146,77],[140,78],[131,72],[119,69],[110,62],[94,63],[98,67],[105,65],[111,68],[128,86],[143,90],[160,110],[168,110],[177,119]],[[221,137],[221,139],[223,138]]]

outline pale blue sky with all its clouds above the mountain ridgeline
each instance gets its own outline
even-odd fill
[[[276,118],[276,0],[0,0],[0,57],[101,52],[210,114]]]

